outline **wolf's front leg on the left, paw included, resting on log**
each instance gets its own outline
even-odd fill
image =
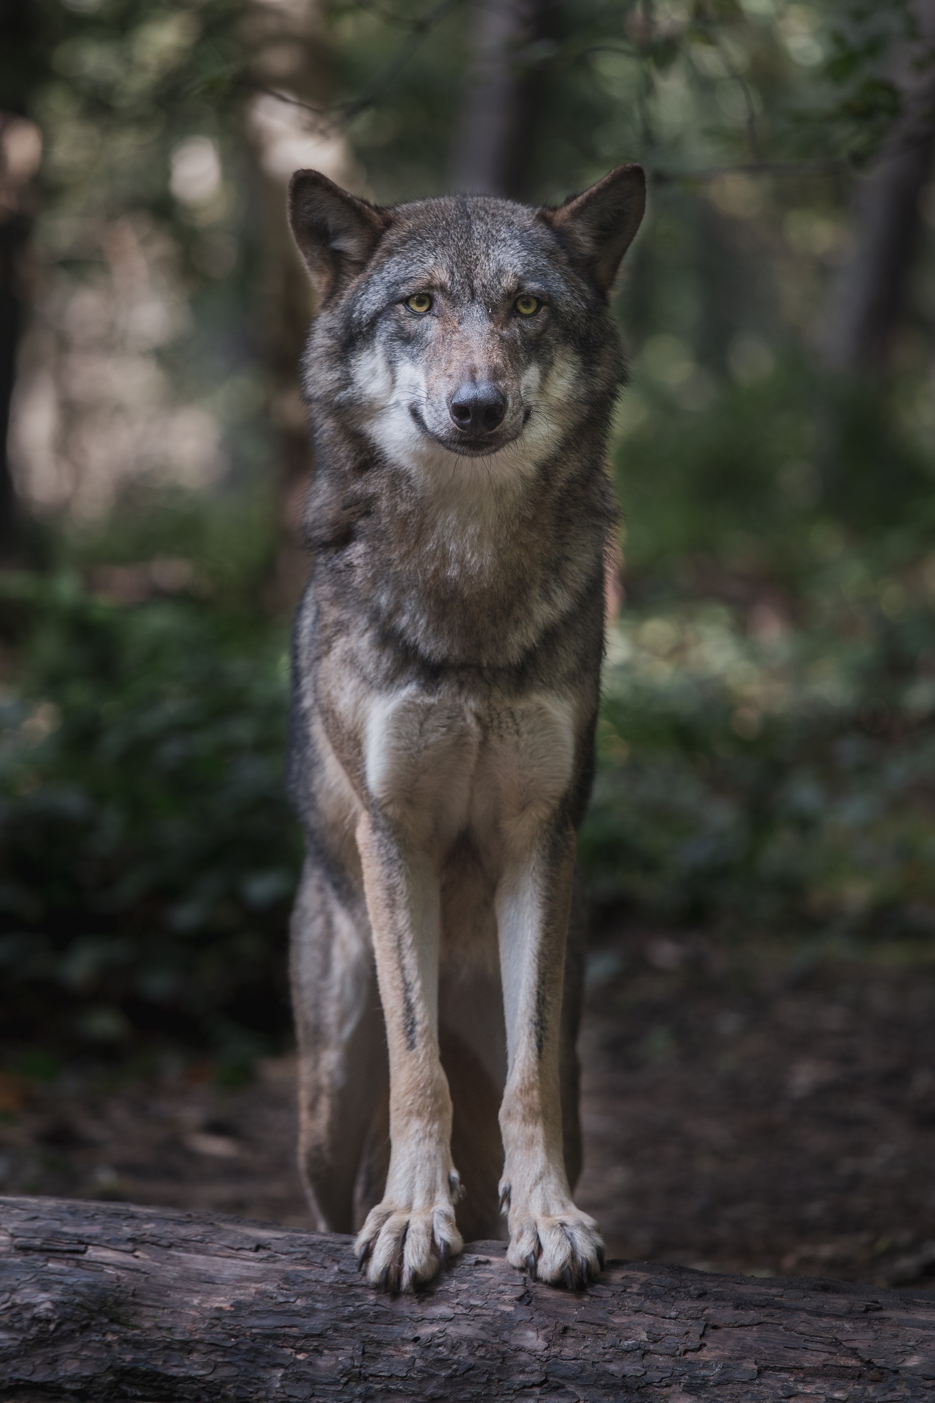
[[[437,1035],[440,894],[428,857],[370,815],[357,847],[390,1051],[390,1173],[356,1240],[371,1285],[411,1289],[464,1246],[454,1223],[451,1096]]]

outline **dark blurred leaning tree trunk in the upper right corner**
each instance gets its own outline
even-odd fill
[[[854,195],[854,250],[831,283],[819,337],[830,370],[866,376],[883,369],[918,230],[918,199],[935,146],[935,0],[915,6],[920,38],[897,55],[903,112]]]

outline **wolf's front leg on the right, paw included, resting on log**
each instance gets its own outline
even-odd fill
[[[509,1070],[500,1131],[512,1266],[580,1287],[604,1264],[597,1223],[572,1202],[562,1155],[559,1035],[575,832],[521,832],[498,888]]]

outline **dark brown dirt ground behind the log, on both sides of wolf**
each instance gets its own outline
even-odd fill
[[[751,965],[615,929],[580,1047],[576,1200],[611,1256],[935,1289],[935,960]],[[306,1226],[293,1099],[290,1058],[237,1090],[181,1059],[0,1073],[0,1193]]]

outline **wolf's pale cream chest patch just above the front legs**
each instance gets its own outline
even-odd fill
[[[485,852],[561,803],[575,772],[575,732],[572,697],[479,703],[416,687],[376,696],[363,738],[366,787],[439,857],[465,835]]]

